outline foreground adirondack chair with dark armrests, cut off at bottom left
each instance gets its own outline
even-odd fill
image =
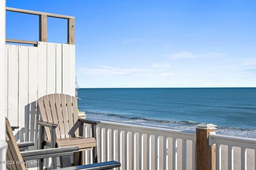
[[[77,151],[78,147],[60,147],[51,149],[39,149],[20,152],[19,147],[16,143],[14,135],[12,133],[12,128],[9,121],[6,118],[6,142],[8,144],[7,154],[6,154],[6,168],[12,170],[26,170],[25,160],[35,160],[41,158],[49,157],[59,157],[59,156],[70,156],[73,155],[74,151]],[[104,163],[96,163],[90,165],[73,166],[62,169],[112,169],[115,167],[120,167],[121,164],[116,161],[109,161]]]

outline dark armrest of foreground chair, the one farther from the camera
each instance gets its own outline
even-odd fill
[[[59,157],[73,155],[74,151],[78,151],[78,147],[59,147],[50,149],[29,150],[20,152],[23,160],[34,160],[41,158]]]

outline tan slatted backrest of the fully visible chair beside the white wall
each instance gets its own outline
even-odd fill
[[[51,94],[38,99],[42,120],[58,123],[56,138],[74,138],[79,136],[77,98],[65,94]],[[45,128],[49,129],[49,128]],[[46,132],[51,138],[50,130]]]

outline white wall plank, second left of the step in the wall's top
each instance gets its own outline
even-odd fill
[[[28,47],[19,46],[19,142],[28,141]],[[26,126],[25,126],[26,125]]]

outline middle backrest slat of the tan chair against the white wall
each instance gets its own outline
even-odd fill
[[[54,98],[55,98],[57,115],[58,115],[58,119],[59,119],[60,137],[66,138],[65,128],[64,128],[64,124],[63,124],[63,116],[62,116],[62,111],[61,111],[61,106],[60,106],[60,94],[54,94]]]

